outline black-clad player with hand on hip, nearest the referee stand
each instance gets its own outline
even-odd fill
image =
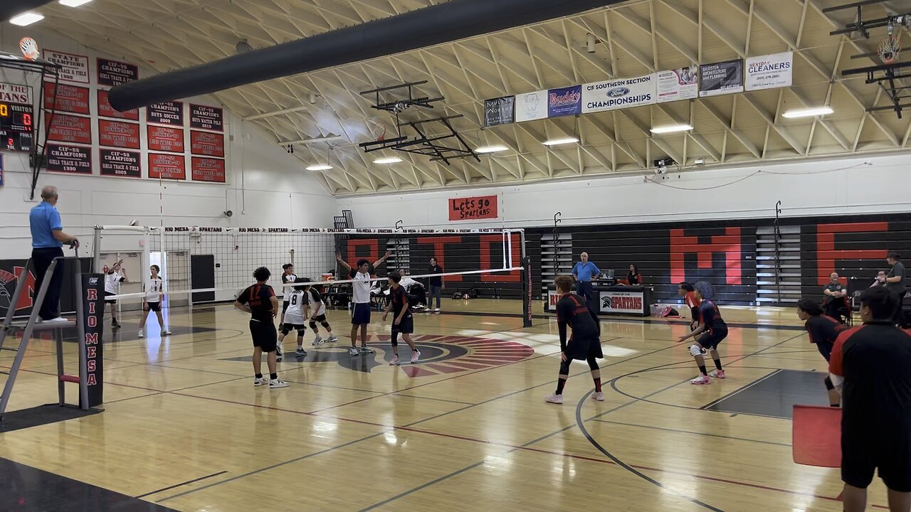
[[[253,271],[256,284],[241,292],[234,307],[242,312],[251,313],[250,334],[253,338],[253,385],[269,384],[271,389],[288,387],[288,383],[279,378],[276,373],[275,350],[278,346],[275,332],[275,316],[279,312],[279,300],[275,291],[266,284],[271,277],[271,272],[265,267]],[[269,365],[269,378],[261,374],[262,353],[265,352],[266,362]]]

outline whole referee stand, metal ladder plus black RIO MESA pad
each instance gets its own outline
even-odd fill
[[[0,353],[15,353],[13,364],[11,364],[9,371],[0,371],[0,375],[5,377],[3,393],[0,394],[0,429],[9,430],[17,427],[17,425],[5,425],[4,416],[6,406],[9,404],[10,395],[13,392],[15,379],[19,374],[22,360],[28,349],[28,343],[31,341],[32,335],[36,332],[50,331],[54,333],[58,397],[58,403],[56,405],[59,407],[69,405],[70,409],[76,407],[74,404],[66,403],[64,386],[66,383],[75,383],[79,386],[79,403],[77,405],[79,411],[88,411],[90,406],[102,403],[101,330],[102,325],[104,325],[104,302],[102,300],[103,293],[101,293],[100,290],[103,290],[104,282],[101,274],[83,273],[80,264],[81,261],[77,256],[58,257],[51,262],[47,269],[47,277],[41,283],[41,288],[38,290],[35,302],[32,305],[32,311],[25,321],[15,320],[15,310],[16,304],[19,303],[22,293],[26,292],[27,276],[29,275],[29,272],[33,271],[31,259],[26,262],[23,273],[19,276],[19,279],[16,280],[15,292],[10,301],[9,309],[6,312],[3,328],[0,329]],[[38,312],[41,310],[41,305],[45,301],[47,288],[52,281],[51,276],[54,275],[54,271],[60,266],[69,267],[68,270],[72,271],[73,292],[76,301],[76,320],[39,323],[37,321]],[[76,329],[78,336],[78,376],[67,374],[64,371],[64,330],[73,328]],[[15,348],[5,346],[7,339],[15,338],[15,333],[19,332],[22,332],[22,338],[19,345]],[[56,416],[56,419],[51,419],[50,421],[46,421],[46,419],[41,419],[40,417],[25,418],[26,415],[43,416],[44,418],[47,418],[48,415],[41,412],[41,410],[45,408],[46,406],[41,406],[21,411],[24,413],[22,423],[28,424],[26,426],[43,425],[45,423],[52,423],[53,421],[60,421],[73,417],[72,415],[69,417],[54,415]],[[18,413],[20,411],[16,412]],[[33,412],[34,414],[32,414]]]

